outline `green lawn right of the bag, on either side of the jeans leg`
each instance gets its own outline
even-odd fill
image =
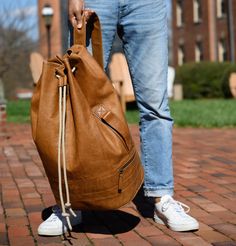
[[[236,100],[205,99],[170,101],[170,110],[177,127],[236,127]],[[136,109],[126,113],[129,123],[138,123]]]

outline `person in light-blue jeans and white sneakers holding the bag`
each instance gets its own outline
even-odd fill
[[[185,204],[174,200],[172,127],[167,96],[168,29],[166,0],[68,0],[69,19],[82,27],[82,14],[93,11],[102,27],[104,69],[116,32],[123,43],[140,112],[144,195],[155,201],[154,220],[174,231],[197,230]],[[90,9],[90,10],[89,10]],[[189,210],[189,208],[188,208]],[[81,221],[81,215],[74,224]],[[60,210],[39,228],[41,234],[62,233]],[[58,229],[59,228],[59,229]],[[64,225],[64,231],[67,230]],[[44,233],[42,233],[44,232]]]

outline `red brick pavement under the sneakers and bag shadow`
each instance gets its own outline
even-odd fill
[[[138,145],[137,126],[131,132]],[[2,126],[0,246],[236,245],[235,139],[235,129],[174,129],[175,198],[191,207],[199,231],[177,233],[155,224],[139,195],[135,204],[143,216],[130,203],[118,211],[83,213],[83,224],[66,237],[39,237],[41,211],[55,201],[30,126]]]

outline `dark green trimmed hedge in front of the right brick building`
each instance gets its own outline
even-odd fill
[[[183,85],[184,98],[230,97],[231,71],[236,71],[236,65],[229,62],[186,63],[177,68],[175,83]]]

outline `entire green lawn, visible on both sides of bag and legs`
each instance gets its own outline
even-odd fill
[[[233,99],[170,101],[170,109],[177,127],[236,127],[236,100]],[[7,103],[8,122],[29,123],[29,112],[29,100]],[[138,124],[138,110],[133,104],[128,105],[126,117],[130,124]]]

